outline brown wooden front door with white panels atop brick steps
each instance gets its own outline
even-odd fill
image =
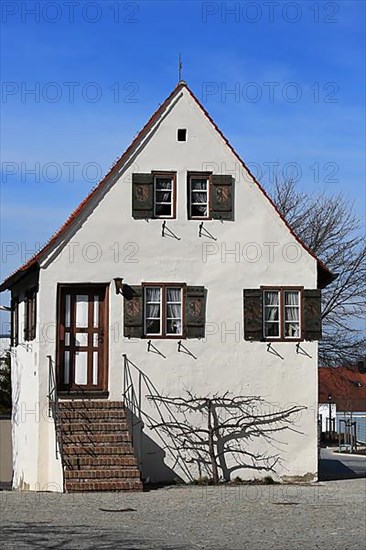
[[[61,286],[58,314],[58,387],[106,390],[107,286]]]

